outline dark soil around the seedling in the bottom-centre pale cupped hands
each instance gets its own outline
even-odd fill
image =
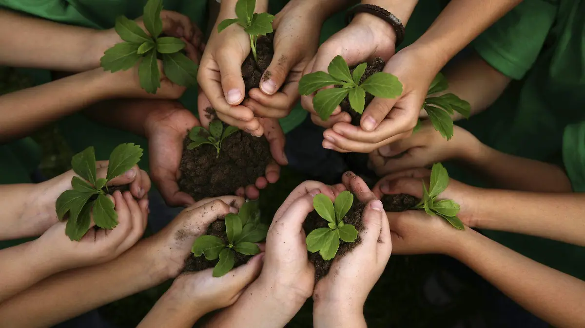
[[[353,202],[352,208],[349,209],[343,218],[343,223],[355,226],[358,232],[362,231],[362,213],[364,207],[365,205],[359,203],[359,201]],[[328,222],[325,221],[324,218],[320,217],[316,211],[312,211],[309,213],[309,215],[307,215],[307,219],[305,219],[305,223],[303,224],[303,229],[305,230],[305,234],[308,235],[309,232],[314,231],[315,229],[326,228],[327,224]],[[353,243],[346,243],[343,240],[339,240],[339,249],[337,254],[335,254],[335,258],[342,257],[348,252],[351,252],[351,250],[361,242],[362,240],[360,239],[359,235],[357,236],[356,241]],[[324,260],[319,252],[309,253],[309,261],[315,264],[315,281],[325,277],[325,275],[329,272],[329,268],[331,268],[331,264],[333,263],[333,260]]]

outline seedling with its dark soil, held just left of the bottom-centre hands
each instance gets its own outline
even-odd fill
[[[266,239],[267,232],[268,226],[260,223],[257,203],[247,202],[237,215],[230,213],[223,221],[215,221],[207,235],[195,239],[185,271],[214,267],[213,276],[221,277],[260,253],[255,243]]]

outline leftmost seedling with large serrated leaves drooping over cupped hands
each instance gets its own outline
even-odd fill
[[[106,183],[135,166],[141,156],[139,145],[117,146],[110,154],[106,177],[100,179],[96,176],[94,147],[73,156],[71,166],[81,178],[74,176],[71,180],[73,189],[64,191],[55,204],[59,220],[69,213],[65,233],[71,240],[79,241],[89,231],[91,218],[102,229],[113,229],[118,225],[114,204],[106,197]]]

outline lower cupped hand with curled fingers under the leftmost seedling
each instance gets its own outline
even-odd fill
[[[108,196],[115,204],[118,225],[111,229],[92,229],[79,242],[72,241],[65,234],[67,222],[59,222],[33,243],[47,252],[49,263],[59,271],[90,266],[112,260],[134,245],[146,228],[148,200],[137,202],[129,191],[123,194],[115,191]]]

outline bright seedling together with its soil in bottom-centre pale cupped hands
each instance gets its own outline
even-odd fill
[[[315,211],[309,213],[303,228],[308,233],[309,260],[315,264],[315,279],[319,280],[328,273],[335,256],[343,256],[359,244],[364,205],[353,203],[349,191],[340,193],[335,205],[329,197],[318,194],[313,205]]]

